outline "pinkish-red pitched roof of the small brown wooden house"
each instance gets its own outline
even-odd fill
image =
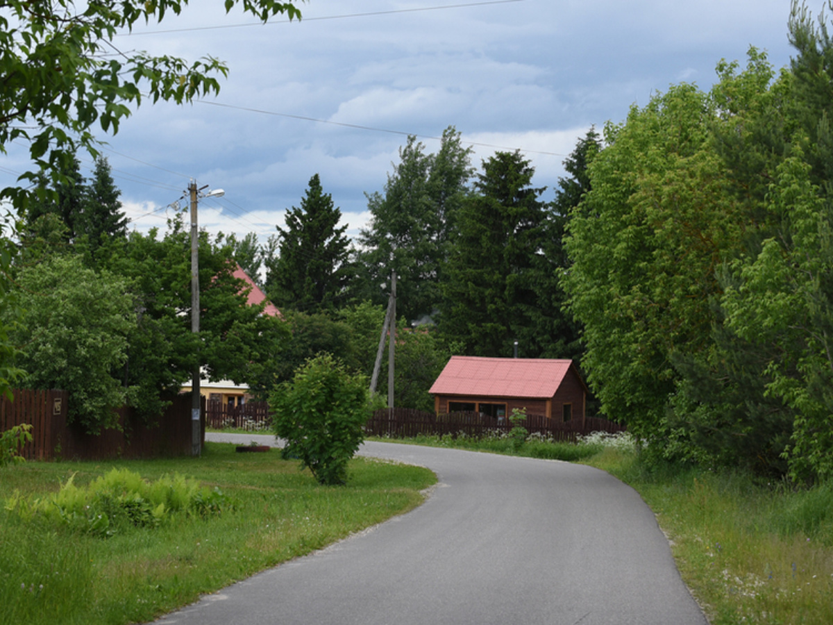
[[[548,399],[571,366],[571,360],[452,356],[429,393]]]

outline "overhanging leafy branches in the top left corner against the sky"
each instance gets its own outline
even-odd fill
[[[21,180],[37,183],[42,170],[59,182],[77,147],[92,150],[95,128],[117,133],[143,99],[191,102],[218,92],[217,74],[227,67],[213,57],[196,62],[168,55],[125,52],[118,32],[136,23],[161,22],[180,13],[187,0],[72,0],[0,3],[0,151],[10,143],[27,147],[36,165]],[[278,13],[300,18],[291,2],[228,0],[262,21]],[[113,54],[112,52],[117,52]],[[25,208],[25,188],[0,190],[0,199]]]

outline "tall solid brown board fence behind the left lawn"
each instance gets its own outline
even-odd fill
[[[15,390],[14,399],[0,399],[0,431],[21,423],[32,424],[32,442],[23,458],[37,460],[155,458],[191,454],[191,395],[171,398],[171,405],[153,423],[139,418],[132,408],[120,408],[119,428],[98,436],[67,423],[67,391]],[[202,403],[205,414],[205,400]],[[202,440],[205,440],[205,419]]]

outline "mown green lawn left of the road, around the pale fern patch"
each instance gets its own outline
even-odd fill
[[[0,622],[146,622],[229,583],[406,512],[436,481],[424,468],[355,458],[347,487],[319,486],[297,461],[206,443],[202,458],[25,463],[0,469],[0,502],[43,498],[72,475],[111,468],[154,480],[180,473],[235,503],[219,517],[177,517],[109,538],[22,522],[0,508]]]

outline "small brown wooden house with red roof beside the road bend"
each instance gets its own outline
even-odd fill
[[[571,360],[452,356],[430,393],[437,414],[504,418],[523,408],[556,422],[586,416],[587,387]]]

